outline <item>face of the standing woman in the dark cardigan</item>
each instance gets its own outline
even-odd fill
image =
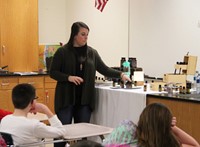
[[[74,47],[81,47],[87,43],[88,29],[80,28],[76,36],[74,36]]]

